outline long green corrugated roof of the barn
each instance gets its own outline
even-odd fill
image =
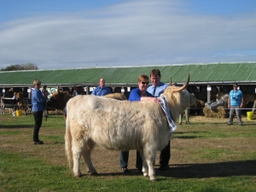
[[[137,84],[138,76],[149,75],[153,68],[160,69],[161,81],[166,83],[170,81],[170,77],[172,82],[183,82],[189,73],[191,84],[211,82],[256,84],[256,62],[244,62],[0,72],[0,86],[31,85],[34,79],[40,79],[43,84],[98,84],[100,78],[106,79],[106,84]]]

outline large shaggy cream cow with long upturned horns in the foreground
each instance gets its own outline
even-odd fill
[[[185,87],[168,87],[166,96],[172,119],[195,102]],[[65,150],[75,176],[81,176],[83,155],[91,174],[96,173],[90,153],[95,145],[114,150],[137,149],[143,156],[143,175],[155,181],[156,151],[166,147],[172,133],[159,104],[149,101],[116,101],[99,96],[75,96],[67,102]]]

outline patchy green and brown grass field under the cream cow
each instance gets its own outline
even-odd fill
[[[172,139],[170,169],[157,171],[150,182],[135,169],[131,151],[129,168],[119,168],[119,151],[96,148],[92,160],[98,172],[90,176],[81,160],[83,177],[73,177],[64,152],[65,121],[49,114],[32,145],[32,114],[0,115],[0,191],[255,191],[256,119],[243,126],[227,119],[191,117],[191,125],[178,125]]]

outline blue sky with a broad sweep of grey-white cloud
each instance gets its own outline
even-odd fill
[[[255,0],[0,0],[0,67],[256,61]]]

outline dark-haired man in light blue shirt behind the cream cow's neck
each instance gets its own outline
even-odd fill
[[[160,82],[161,73],[159,69],[153,69],[150,73],[150,80],[152,82],[152,85],[148,87],[148,92],[151,93],[153,96],[160,96],[166,90],[168,87],[168,84],[164,84]],[[160,151],[160,171],[166,171],[169,169],[169,160],[171,158],[171,143],[166,145],[165,148],[163,148]]]

